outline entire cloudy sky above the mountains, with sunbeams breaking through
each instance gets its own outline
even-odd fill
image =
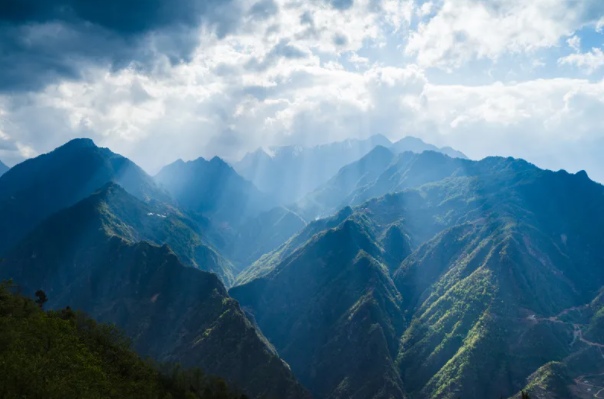
[[[383,134],[604,182],[602,0],[0,0],[0,159]]]

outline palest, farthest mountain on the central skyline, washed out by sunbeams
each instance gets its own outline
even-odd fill
[[[358,160],[375,146],[391,144],[386,137],[375,135],[315,147],[258,149],[233,166],[278,204],[286,205],[325,183],[341,167]]]

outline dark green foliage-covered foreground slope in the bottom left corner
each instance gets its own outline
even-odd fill
[[[240,399],[200,369],[142,360],[114,326],[70,309],[43,312],[0,285],[0,397]]]

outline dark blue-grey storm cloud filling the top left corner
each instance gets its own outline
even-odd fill
[[[0,0],[0,92],[78,79],[87,64],[184,62],[200,25],[223,37],[241,15],[230,0]]]

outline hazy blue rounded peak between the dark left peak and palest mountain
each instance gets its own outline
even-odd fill
[[[178,160],[165,166],[155,180],[185,209],[227,222],[241,224],[270,209],[274,202],[218,157],[206,161]]]

